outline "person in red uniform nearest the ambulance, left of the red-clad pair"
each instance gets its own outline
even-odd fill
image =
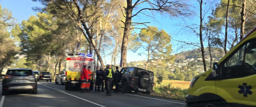
[[[86,83],[88,82],[88,73],[86,70],[86,65],[83,66],[83,69],[81,70],[81,93],[85,93]]]

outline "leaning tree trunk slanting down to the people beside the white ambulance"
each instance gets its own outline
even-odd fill
[[[80,21],[81,21],[81,23],[82,23],[82,25],[83,25],[84,28],[82,28],[82,26],[81,26],[80,23],[78,24],[78,26],[79,26],[80,30],[83,32],[83,34],[84,34],[85,38],[87,39],[87,41],[88,41],[90,44],[92,44],[92,47],[94,48],[94,51],[96,52],[97,57],[98,57],[98,59],[100,60],[101,66],[102,66],[103,68],[105,68],[104,62],[103,62],[103,60],[102,60],[102,58],[101,58],[101,56],[100,56],[100,52],[98,51],[98,49],[97,49],[97,47],[96,47],[96,43],[95,43],[95,41],[94,41],[94,39],[93,39],[93,37],[92,37],[92,35],[91,35],[91,33],[90,33],[89,28],[87,27],[85,21],[83,20],[83,15],[82,15],[81,9],[80,9],[80,7],[79,7],[79,4],[78,4],[77,0],[73,0],[73,1],[74,1],[75,5],[76,5],[76,7],[77,7],[77,9],[78,9],[79,18],[80,18]],[[86,31],[86,34],[87,34],[88,37],[86,36],[84,30]]]

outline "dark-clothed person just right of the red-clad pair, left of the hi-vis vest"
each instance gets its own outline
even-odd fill
[[[98,82],[97,82],[97,86],[98,86],[98,92],[100,92],[100,85],[102,85],[101,87],[101,92],[104,92],[104,83],[103,83],[103,77],[104,77],[104,71],[100,68],[97,68],[97,73],[96,73],[96,78],[98,77]]]

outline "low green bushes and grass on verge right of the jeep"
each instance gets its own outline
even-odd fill
[[[154,89],[154,92],[151,93],[151,95],[154,95],[154,96],[185,100],[185,96],[187,95],[187,89],[175,88],[175,87],[172,87],[171,84],[157,85],[157,86],[154,86],[153,89]]]

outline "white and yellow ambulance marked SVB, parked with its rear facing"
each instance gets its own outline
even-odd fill
[[[66,90],[70,90],[72,87],[80,87],[80,72],[84,65],[87,65],[87,68],[88,66],[91,66],[92,74],[94,74],[95,64],[92,54],[69,53],[67,55],[65,80]],[[94,79],[93,77],[94,75],[91,77],[92,80]]]

